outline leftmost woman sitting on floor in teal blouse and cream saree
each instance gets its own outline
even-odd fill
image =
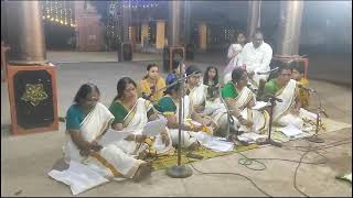
[[[139,180],[150,173],[150,163],[131,157],[115,144],[97,143],[114,121],[110,111],[98,102],[99,97],[97,86],[84,84],[75,96],[75,103],[68,108],[65,162],[69,164],[69,161],[75,161],[98,168],[109,178],[126,177]]]

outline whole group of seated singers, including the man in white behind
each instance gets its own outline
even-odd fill
[[[307,111],[301,108],[308,107],[308,92],[298,87],[306,82],[303,69],[298,65],[284,65],[277,77],[269,80],[268,75],[258,75],[261,69],[269,70],[270,57],[267,59],[271,56],[270,48],[270,55],[266,54],[269,50],[261,37],[257,32],[254,42],[246,44],[243,52],[237,51],[242,58],[237,57],[236,62],[242,64],[227,66],[231,72],[225,72],[223,78],[228,79],[223,86],[216,67],[207,67],[202,75],[196,66],[183,65],[186,80],[181,87],[175,82],[180,78],[179,65],[164,80],[158,65],[151,64],[139,85],[129,77],[120,78],[117,95],[107,108],[99,102],[96,85],[82,85],[66,114],[66,163],[76,161],[94,166],[109,178],[140,180],[151,172],[151,162],[146,161],[146,156],[172,154],[174,146],[194,150],[200,145],[197,133],[228,138],[231,125],[233,131],[264,134],[269,124],[268,107],[259,110],[252,107],[257,100],[267,101],[268,96],[282,100],[274,107],[274,123],[303,128],[302,118]],[[234,57],[229,55],[229,58],[235,63]],[[257,59],[259,63],[255,63]],[[257,94],[252,87],[258,89]],[[179,107],[181,89],[184,89],[183,108]],[[179,111],[183,114],[182,123]],[[161,117],[168,120],[165,129],[157,136],[142,135],[143,127]],[[131,131],[131,134],[125,140],[99,145],[97,140],[109,128]],[[178,145],[180,128],[182,141]]]

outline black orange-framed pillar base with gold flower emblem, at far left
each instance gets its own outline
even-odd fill
[[[9,65],[8,90],[13,134],[58,130],[54,65]]]

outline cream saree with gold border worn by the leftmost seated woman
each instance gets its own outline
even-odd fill
[[[110,111],[98,102],[81,123],[81,135],[87,142],[97,141],[109,128],[113,120],[114,116]],[[64,150],[66,163],[76,161],[92,167],[108,178],[132,178],[143,162],[127,155],[120,147],[114,144],[103,145],[104,147],[99,152],[90,153],[89,156],[84,157],[79,154],[79,150],[74,144],[71,135],[66,134],[66,138],[67,141]]]

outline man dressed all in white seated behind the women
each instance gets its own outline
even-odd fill
[[[267,80],[268,75],[258,75],[270,70],[269,64],[272,58],[272,48],[264,42],[264,35],[260,31],[255,32],[253,41],[247,43],[238,61],[238,66],[246,68],[252,85],[257,88],[260,79]]]

